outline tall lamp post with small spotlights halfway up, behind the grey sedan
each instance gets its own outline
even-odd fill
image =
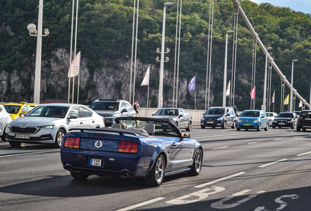
[[[163,105],[163,72],[164,72],[164,44],[165,44],[165,11],[166,6],[173,5],[172,2],[166,2],[163,4],[163,27],[162,27],[162,46],[161,46],[161,61],[160,61],[160,83],[159,83],[159,94],[157,108],[160,109]],[[168,61],[168,58],[166,59]]]

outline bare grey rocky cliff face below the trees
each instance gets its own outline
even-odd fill
[[[59,48],[52,52],[48,60],[42,61],[41,68],[41,101],[46,98],[67,99],[68,96],[68,78],[67,71],[69,67],[69,52],[66,49]],[[32,66],[26,67],[18,72],[13,70],[11,73],[0,70],[0,101],[1,102],[32,102],[35,74],[35,55],[32,56]],[[106,63],[105,61],[104,63]],[[130,80],[131,80],[131,59],[114,61],[114,65],[104,65],[102,69],[97,69],[92,75],[87,68],[87,59],[81,59],[80,64],[80,95],[79,103],[89,104],[96,99],[123,99],[130,101]],[[135,72],[135,96],[134,99],[142,107],[147,106],[147,86],[140,87],[140,83],[149,64],[143,64],[137,61]],[[134,68],[133,68],[134,71]],[[159,68],[155,65],[150,66],[151,77],[159,77]],[[219,70],[218,70],[219,71]],[[218,72],[213,71],[215,74]],[[133,76],[134,77],[134,76]],[[76,77],[75,85],[77,85]],[[164,91],[163,107],[173,106],[173,78],[174,70],[164,69]],[[213,76],[212,76],[213,79]],[[133,79],[132,79],[133,80]],[[71,80],[72,81],[72,80]],[[86,90],[88,83],[92,83],[89,90]],[[178,83],[178,107],[194,109],[195,93],[188,94],[187,79],[179,78]],[[152,103],[157,105],[158,84],[149,89],[149,106]],[[72,89],[72,83],[71,83]],[[133,85],[132,85],[133,90]],[[176,89],[175,89],[176,92]],[[72,93],[72,90],[70,91]],[[81,96],[81,93],[85,93]],[[188,97],[186,95],[188,94]],[[76,95],[76,90],[75,90]],[[153,96],[153,97],[152,97]],[[76,103],[75,96],[74,102]],[[133,91],[132,97],[133,99]],[[213,105],[213,93],[210,94],[210,105]],[[71,94],[70,94],[71,101]],[[190,103],[190,104],[189,104]],[[197,109],[205,107],[205,87],[197,84]]]

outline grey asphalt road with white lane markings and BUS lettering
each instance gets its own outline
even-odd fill
[[[157,188],[143,179],[75,180],[59,150],[0,142],[0,210],[311,211],[311,131],[194,126],[191,138],[204,150],[200,175],[166,177]]]

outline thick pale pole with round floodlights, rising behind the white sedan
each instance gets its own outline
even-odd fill
[[[42,15],[43,14],[43,0],[39,0],[39,14],[38,14],[38,31],[37,34],[36,25],[30,23],[27,26],[30,36],[37,36],[37,50],[36,50],[36,68],[35,68],[35,84],[33,103],[40,103],[40,81],[41,81],[41,52],[42,52],[42,36],[49,34],[48,29],[44,29],[44,35],[42,35]]]

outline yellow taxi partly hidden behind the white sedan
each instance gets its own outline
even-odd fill
[[[20,103],[5,103],[3,104],[6,112],[11,114],[12,120],[24,116],[32,108],[37,107],[39,104],[27,104],[26,102]]]

